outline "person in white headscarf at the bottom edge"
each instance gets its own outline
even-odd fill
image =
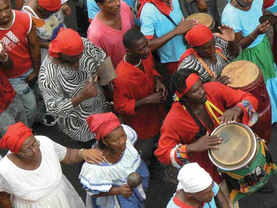
[[[177,191],[167,208],[230,208],[218,184],[198,163],[184,165],[178,173],[178,181]]]

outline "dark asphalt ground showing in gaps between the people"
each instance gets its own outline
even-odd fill
[[[222,13],[222,10],[226,4],[226,0],[218,1],[220,14]],[[72,16],[65,18],[65,24],[69,28],[76,29],[75,6],[72,2],[70,2],[70,5],[72,7],[73,14]],[[269,38],[270,35],[271,33],[268,32]],[[157,70],[160,71],[159,68]],[[33,129],[37,135],[46,135],[53,141],[65,147],[81,149],[82,145],[80,143],[74,142],[70,137],[60,132],[57,125],[49,127],[42,124],[35,124]],[[272,125],[271,141],[268,147],[270,149],[273,161],[277,162],[277,123]],[[0,150],[0,154],[4,156],[6,151]],[[176,191],[178,171],[173,167],[160,164],[157,160],[153,161],[153,165],[155,167],[157,177],[155,179],[150,179],[149,181],[149,188],[146,193],[147,199],[145,201],[145,205],[149,208],[166,207],[168,201]],[[86,192],[83,190],[82,185],[78,179],[79,166],[80,164],[61,164],[63,174],[68,178],[68,180],[71,181],[72,185],[75,187],[83,200],[86,201]],[[276,185],[277,177],[271,177],[270,182]],[[277,208],[277,191],[270,194],[256,192],[252,195],[242,198],[239,201],[239,204],[241,208]]]

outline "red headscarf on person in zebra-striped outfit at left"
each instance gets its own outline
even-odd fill
[[[58,53],[78,55],[84,50],[81,36],[73,29],[60,28],[57,37],[51,41],[49,55],[58,58]]]

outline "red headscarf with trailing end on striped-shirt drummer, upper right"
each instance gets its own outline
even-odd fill
[[[211,29],[198,24],[191,28],[186,33],[186,40],[190,46],[201,46],[205,44],[206,42],[210,41],[214,37],[214,34],[212,33]],[[194,53],[197,56],[197,52],[193,48],[187,49],[182,55],[179,60],[179,64],[184,60],[185,57],[189,56],[190,54]]]

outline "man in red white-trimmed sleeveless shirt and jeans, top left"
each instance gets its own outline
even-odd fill
[[[31,127],[34,121],[45,118],[44,102],[36,82],[40,48],[31,16],[12,10],[9,0],[0,0],[0,40],[14,63],[12,70],[4,73],[19,95]],[[0,70],[3,70],[2,66]]]

